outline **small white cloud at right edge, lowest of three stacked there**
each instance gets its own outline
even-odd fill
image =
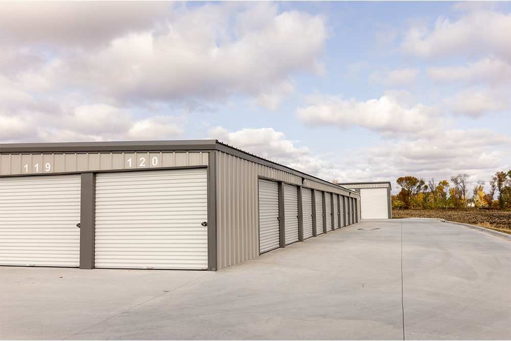
[[[477,117],[485,113],[509,110],[509,88],[468,88],[444,99],[444,104],[457,115]]]

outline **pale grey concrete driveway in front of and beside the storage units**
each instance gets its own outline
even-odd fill
[[[2,339],[511,339],[511,242],[435,220],[364,221],[218,272],[0,280]]]

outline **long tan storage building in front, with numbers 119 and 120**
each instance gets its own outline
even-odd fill
[[[356,223],[359,205],[217,140],[0,144],[0,265],[216,271]]]

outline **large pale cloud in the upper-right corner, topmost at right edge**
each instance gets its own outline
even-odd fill
[[[423,26],[409,29],[401,44],[405,55],[424,59],[454,56],[511,58],[509,39],[511,14],[471,11],[458,20],[439,17],[432,30]]]

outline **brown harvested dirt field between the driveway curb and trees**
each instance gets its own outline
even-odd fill
[[[392,209],[392,218],[442,218],[511,233],[511,211]]]

